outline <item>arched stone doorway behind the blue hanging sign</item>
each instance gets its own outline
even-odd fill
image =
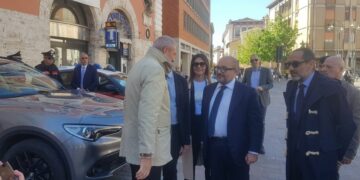
[[[116,31],[117,45],[108,47],[106,51],[109,54],[108,63],[113,65],[116,70],[123,73],[127,73],[128,61],[131,60],[131,44],[132,44],[132,27],[129,19],[119,10],[113,10],[110,12],[107,18],[107,22],[115,22],[115,27],[108,27],[107,33],[110,33],[112,29]]]

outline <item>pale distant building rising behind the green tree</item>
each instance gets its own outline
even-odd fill
[[[224,55],[237,58],[238,47],[241,45],[244,37],[244,32],[253,28],[264,28],[263,20],[255,20],[251,18],[238,19],[236,21],[230,20],[226,25],[223,33],[222,42],[224,45]]]

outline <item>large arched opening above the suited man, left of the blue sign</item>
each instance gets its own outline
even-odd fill
[[[55,49],[55,63],[78,63],[81,52],[88,52],[90,28],[86,6],[67,0],[55,0],[50,16],[50,46]]]

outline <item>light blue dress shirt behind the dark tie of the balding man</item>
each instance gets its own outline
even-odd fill
[[[221,89],[222,84],[218,83],[214,94],[210,101],[210,109],[209,109],[209,116],[211,108],[214,104],[215,97]],[[215,137],[226,137],[227,136],[227,121],[228,121],[228,114],[230,108],[231,97],[233,94],[234,86],[235,86],[235,79],[231,80],[229,83],[225,84],[226,88],[224,89],[224,94],[220,101],[220,106],[218,109],[218,113],[216,115],[215,120]]]

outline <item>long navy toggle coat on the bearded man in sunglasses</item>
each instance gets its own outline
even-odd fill
[[[355,131],[351,111],[345,99],[345,92],[338,81],[329,79],[318,72],[305,95],[300,120],[294,118],[294,101],[297,81],[289,81],[284,93],[287,117],[287,175],[292,169],[291,161],[295,152],[302,156],[320,156],[325,152],[337,152],[342,160]],[[323,157],[324,158],[324,157]],[[316,172],[333,166],[322,158],[309,158]],[[321,161],[320,161],[321,160]],[[315,165],[316,164],[316,165]],[[336,166],[336,164],[334,164]]]

